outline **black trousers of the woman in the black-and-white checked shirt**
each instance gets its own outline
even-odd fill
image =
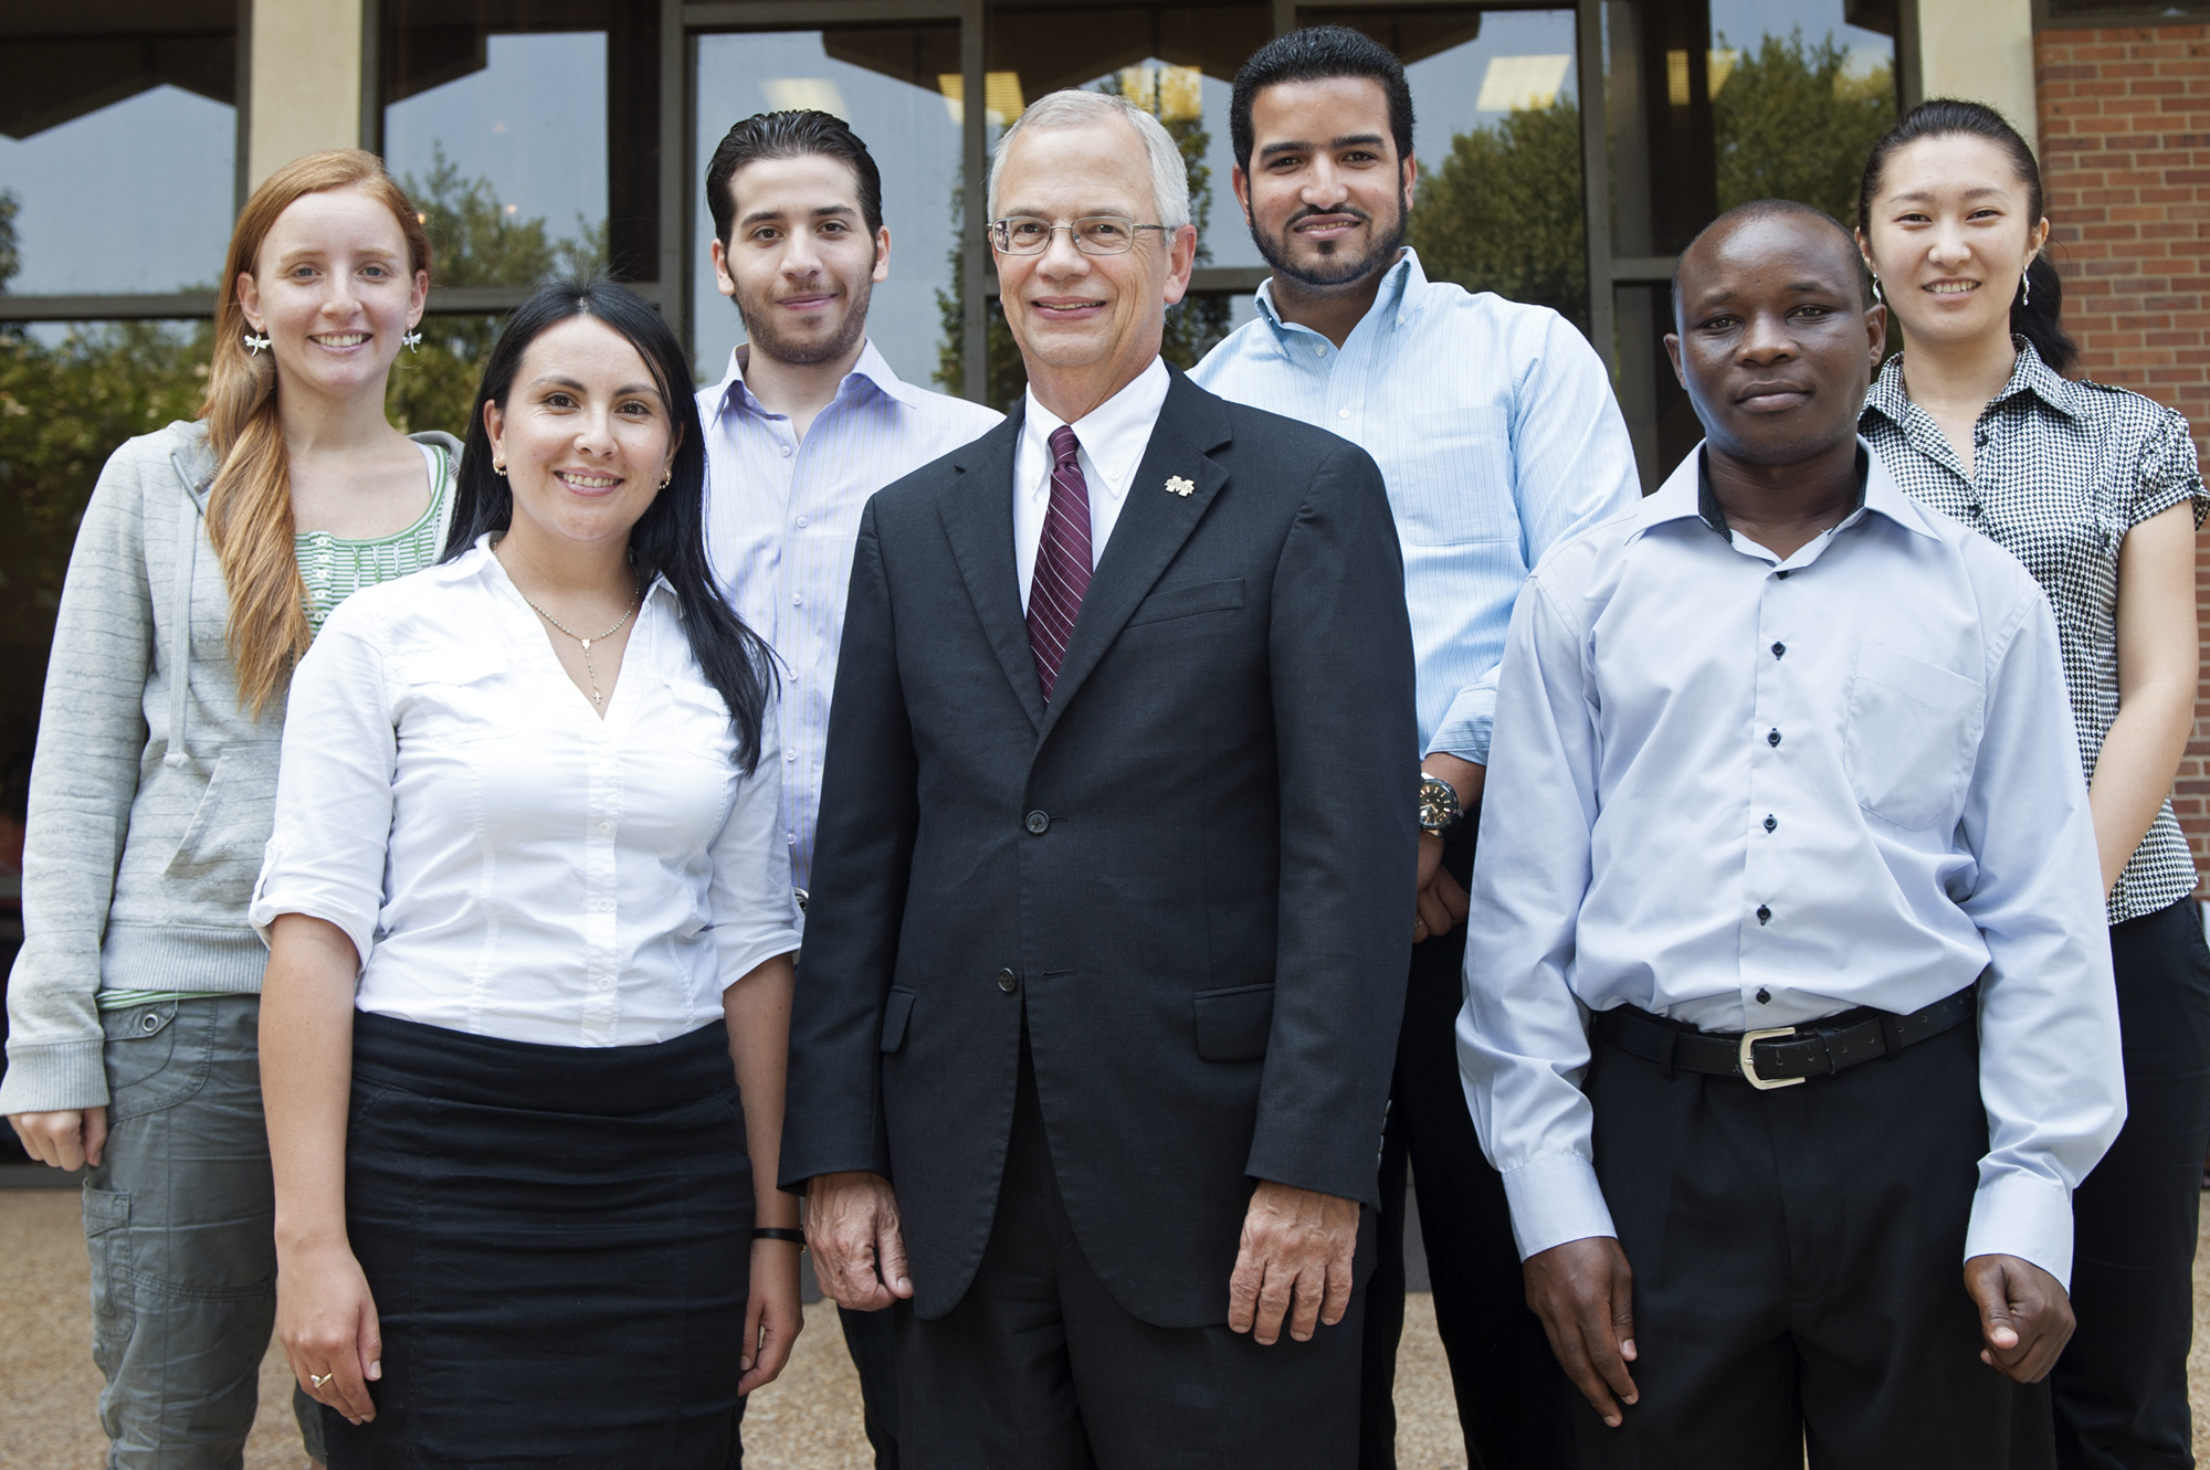
[[[2073,1192],[2080,1329],[2046,1386],[2064,1470],[2192,1466],[2188,1344],[2210,1152],[2210,949],[2192,898],[2111,925],[2126,1128]],[[2027,1395],[2020,1395],[2027,1397]],[[2035,1404],[2046,1415],[2049,1404]],[[2013,1470],[2038,1461],[2018,1459]]]

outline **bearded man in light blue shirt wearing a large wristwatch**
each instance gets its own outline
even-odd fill
[[[1419,177],[1403,66],[1293,31],[1235,79],[1235,199],[1273,265],[1257,320],[1191,377],[1364,446],[1388,481],[1419,656],[1421,885],[1368,1287],[1361,1470],[1395,1461],[1406,1157],[1472,1463],[1562,1466],[1571,1388],[1527,1311],[1498,1176],[1459,1086],[1465,881],[1496,664],[1527,569],[1638,497],[1611,380],[1556,311],[1430,283],[1403,245]],[[1410,775],[1410,768],[1408,768]],[[1478,942],[1478,936],[1476,936]]]

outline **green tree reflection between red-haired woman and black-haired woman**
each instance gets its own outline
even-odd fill
[[[528,287],[546,276],[606,269],[606,225],[577,219],[577,232],[552,238],[546,221],[515,219],[499,205],[491,179],[462,179],[431,146],[427,179],[407,174],[400,188],[429,230],[431,280],[440,287]],[[475,384],[497,335],[495,316],[431,316],[420,351],[400,353],[385,411],[402,430],[444,428],[466,437]]]

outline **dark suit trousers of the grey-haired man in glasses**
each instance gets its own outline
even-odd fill
[[[1160,1221],[1174,1249],[1174,1221]],[[1227,1304],[1229,1282],[1220,1282]],[[1273,1346],[1151,1327],[1083,1258],[1021,1044],[1012,1141],[975,1285],[944,1318],[893,1304],[906,1470],[1344,1470],[1357,1441],[1359,1315]]]

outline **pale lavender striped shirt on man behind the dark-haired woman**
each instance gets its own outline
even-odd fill
[[[869,342],[800,439],[789,415],[767,413],[745,386],[745,353],[729,353],[729,375],[698,391],[707,556],[738,616],[782,660],[782,834],[791,883],[804,887],[860,508],[1003,415],[915,388]]]

